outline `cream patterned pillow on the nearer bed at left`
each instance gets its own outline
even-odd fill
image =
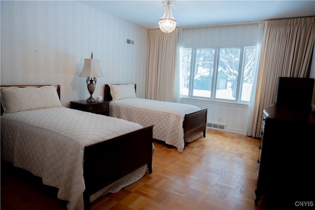
[[[40,88],[9,87],[1,88],[1,104],[3,115],[33,109],[61,107],[57,93],[57,86],[43,86]]]

